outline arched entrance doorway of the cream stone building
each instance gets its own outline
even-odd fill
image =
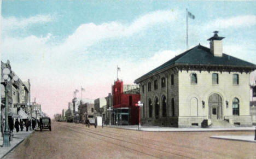
[[[214,93],[209,97],[209,118],[211,120],[222,119],[222,97]]]

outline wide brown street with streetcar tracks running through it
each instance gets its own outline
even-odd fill
[[[255,143],[212,139],[235,132],[143,132],[53,122],[34,131],[5,158],[254,158]]]

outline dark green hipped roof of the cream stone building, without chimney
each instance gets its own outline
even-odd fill
[[[202,45],[197,45],[194,48],[175,56],[171,60],[165,62],[159,67],[151,70],[150,72],[144,74],[140,78],[135,81],[144,78],[150,74],[158,72],[168,66],[172,66],[174,64],[184,64],[184,65],[213,65],[213,66],[235,66],[235,67],[249,67],[256,69],[256,65],[253,63],[249,63],[239,58],[223,54],[222,57],[214,56],[209,48],[206,48]]]

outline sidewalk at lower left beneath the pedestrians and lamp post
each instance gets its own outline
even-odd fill
[[[32,132],[34,132],[33,130],[31,131],[19,131],[18,133],[16,132],[16,130],[14,129],[13,132],[13,140],[10,141],[10,146],[9,147],[2,147],[3,145],[3,138],[1,137],[0,139],[0,158],[3,158],[5,155],[7,155],[11,150],[13,150],[16,146],[18,146],[24,139],[26,139]]]

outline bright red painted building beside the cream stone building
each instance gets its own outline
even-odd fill
[[[137,125],[138,107],[141,99],[138,85],[123,85],[119,79],[112,86],[113,113],[115,125]]]

